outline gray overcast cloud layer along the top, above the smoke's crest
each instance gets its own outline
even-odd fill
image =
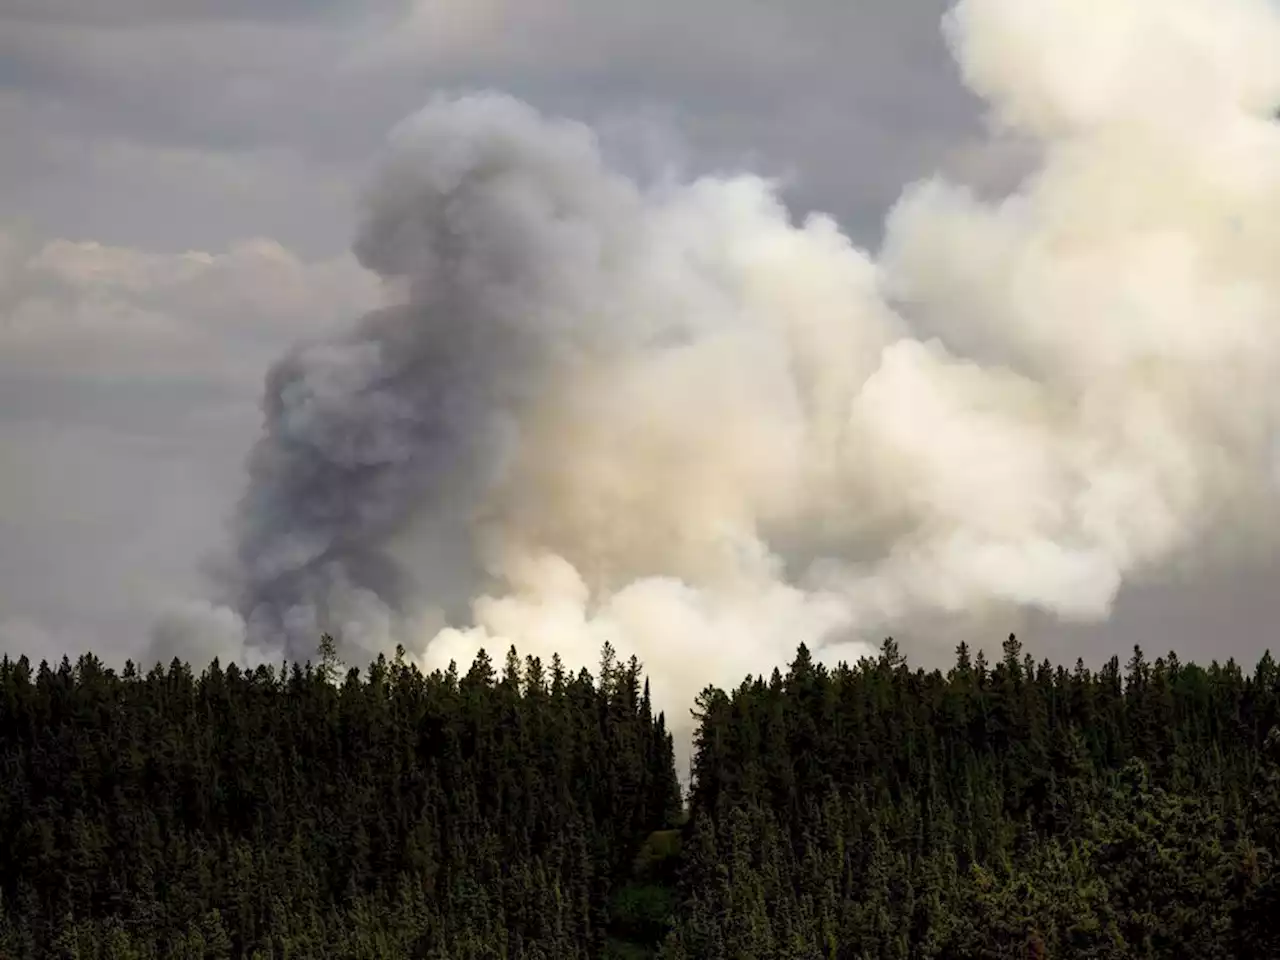
[[[38,18],[6,6],[0,202],[54,236],[216,247],[251,232],[333,252],[349,196],[317,195],[362,179],[384,132],[430,92],[495,87],[593,125],[660,110],[690,168],[788,174],[799,206],[873,232],[904,173],[977,129],[943,6],[806,0],[783,17],[723,0],[433,0],[289,18],[273,10],[297,5],[265,3],[198,22],[198,4],[165,17],[125,0]],[[68,188],[81,196],[61,200]]]

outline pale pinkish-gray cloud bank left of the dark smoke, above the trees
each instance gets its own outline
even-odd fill
[[[137,655],[160,605],[207,589],[266,367],[376,284],[265,241],[0,251],[0,639]]]

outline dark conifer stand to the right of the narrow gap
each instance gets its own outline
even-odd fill
[[[1280,672],[961,646],[699,698],[667,960],[1280,957]]]

